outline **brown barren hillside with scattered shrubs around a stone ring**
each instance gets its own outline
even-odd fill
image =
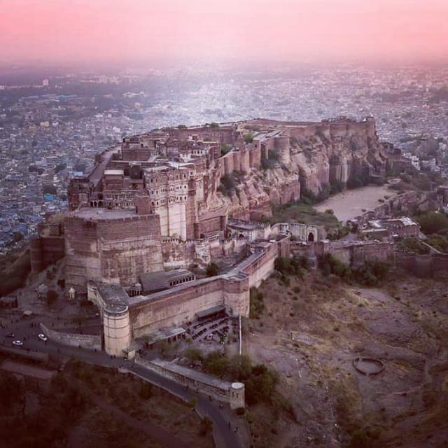
[[[246,353],[276,368],[295,414],[276,422],[270,447],[448,446],[448,276],[390,277],[381,288],[316,272],[262,285]],[[358,356],[384,370],[357,372]]]

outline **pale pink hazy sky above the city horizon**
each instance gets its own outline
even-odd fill
[[[448,56],[448,0],[0,0],[0,62]]]

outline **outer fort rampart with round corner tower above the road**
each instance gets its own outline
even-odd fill
[[[182,325],[195,319],[198,312],[216,306],[223,305],[233,316],[248,316],[250,288],[260,286],[274,272],[275,259],[288,250],[288,242],[289,237],[283,237],[279,241],[254,245],[253,254],[227,274],[192,281],[148,296],[128,297],[127,304],[115,300],[109,303],[90,283],[88,297],[102,313],[107,353],[123,353],[132,340],[160,328]],[[119,319],[114,318],[113,325],[109,325],[109,316],[106,325],[106,314]]]

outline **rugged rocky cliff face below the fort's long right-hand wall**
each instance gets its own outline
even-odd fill
[[[252,167],[235,188],[212,194],[207,208],[227,209],[230,216],[269,216],[271,202],[300,199],[305,190],[318,195],[330,188],[362,186],[384,175],[386,153],[376,135],[367,133],[289,137],[288,145],[269,151],[272,158]],[[269,167],[268,167],[269,166]]]

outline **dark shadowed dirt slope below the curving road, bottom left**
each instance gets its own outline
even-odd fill
[[[0,372],[3,379],[10,376]],[[161,433],[171,446],[214,447],[186,403],[130,374],[70,361],[49,390],[23,385],[18,402],[0,409],[0,447],[31,447],[31,440],[48,448],[163,448]]]

